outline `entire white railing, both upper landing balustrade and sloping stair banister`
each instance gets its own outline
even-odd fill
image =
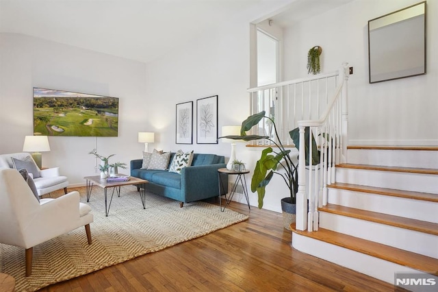
[[[308,145],[312,145],[312,138],[318,145],[319,165],[305,165],[305,143],[300,143],[298,150],[298,230],[318,230],[318,206],[326,205],[326,186],[335,182],[335,165],[346,162],[348,76],[348,63],[344,63],[334,73],[248,89],[250,113],[265,110],[274,119],[285,147],[294,145],[289,131],[296,127],[300,128],[300,141],[305,140],[305,129],[308,127],[313,134],[309,135]],[[272,125],[263,120],[252,134],[270,136],[276,141]],[[270,141],[252,141],[251,144],[270,145]],[[312,157],[311,147],[309,149]]]

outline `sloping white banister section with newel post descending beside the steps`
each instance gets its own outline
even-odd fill
[[[346,162],[348,144],[348,64],[339,71],[339,85],[335,95],[318,120],[298,121],[300,141],[305,139],[305,128],[309,127],[316,144],[319,145],[320,165],[309,165],[306,185],[305,143],[300,143],[298,154],[298,193],[296,196],[296,228],[298,230],[318,230],[318,206],[327,204],[327,185],[335,182],[335,165]],[[309,145],[313,138],[309,137]],[[309,156],[312,149],[309,147]],[[311,160],[310,160],[311,162]],[[313,177],[315,168],[315,178]],[[318,178],[319,176],[319,178]],[[309,210],[307,211],[307,202]]]

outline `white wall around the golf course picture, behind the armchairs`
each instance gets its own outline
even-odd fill
[[[51,136],[44,167],[61,167],[70,185],[98,175],[94,158],[116,154],[110,162],[142,157],[137,133],[150,130],[146,121],[146,64],[116,58],[20,34],[0,34],[0,154],[21,152],[25,135],[33,134],[33,87],[70,90],[119,98],[118,137]]]

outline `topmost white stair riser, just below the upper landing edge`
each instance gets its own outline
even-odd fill
[[[348,163],[435,169],[438,151],[348,149]]]

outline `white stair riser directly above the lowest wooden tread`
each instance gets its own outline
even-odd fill
[[[390,245],[409,252],[438,258],[438,236],[387,226],[328,212],[320,212],[320,228]]]

